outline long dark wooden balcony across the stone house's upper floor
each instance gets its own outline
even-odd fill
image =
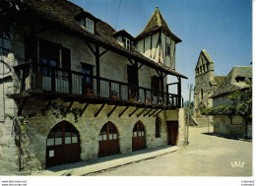
[[[15,70],[20,89],[9,96],[16,99],[30,96],[61,97],[67,101],[164,109],[179,108],[183,104],[179,94],[162,93],[39,63],[19,65]]]

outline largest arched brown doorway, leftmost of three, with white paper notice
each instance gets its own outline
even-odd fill
[[[80,160],[78,130],[69,122],[61,121],[49,132],[46,141],[46,166]]]

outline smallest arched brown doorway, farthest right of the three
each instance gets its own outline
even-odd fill
[[[146,149],[146,132],[141,121],[138,121],[133,127],[132,151]]]

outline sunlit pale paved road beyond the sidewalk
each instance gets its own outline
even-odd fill
[[[190,128],[190,144],[179,152],[132,163],[96,176],[251,176],[252,143],[204,134],[207,128]],[[232,167],[231,161],[244,167]]]

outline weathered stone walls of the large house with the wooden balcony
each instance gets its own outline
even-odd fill
[[[66,1],[65,1],[66,2]],[[34,30],[40,30],[41,25],[34,24]],[[43,169],[46,167],[46,140],[50,130],[61,121],[70,122],[78,131],[80,136],[80,158],[81,160],[94,159],[98,154],[98,135],[102,126],[111,121],[117,128],[119,147],[121,154],[127,154],[132,152],[132,136],[133,127],[136,122],[141,121],[146,130],[146,148],[156,148],[167,145],[167,121],[179,122],[179,140],[178,145],[182,146],[185,142],[185,120],[183,109],[163,110],[160,112],[160,137],[156,138],[156,117],[144,116],[144,114],[137,117],[144,108],[139,108],[135,114],[129,116],[136,107],[129,106],[126,112],[120,117],[119,114],[126,108],[126,105],[118,105],[114,112],[108,117],[107,114],[114,107],[114,105],[106,104],[100,113],[95,116],[101,103],[90,103],[84,114],[79,117],[76,122],[74,115],[67,113],[65,116],[55,117],[49,110],[46,114],[41,114],[41,109],[45,108],[47,101],[42,97],[29,96],[26,98],[26,102],[21,106],[21,99],[11,98],[11,94],[20,93],[23,86],[21,80],[14,70],[14,66],[26,63],[26,37],[29,34],[30,26],[17,27],[13,26],[12,39],[10,43],[6,43],[5,47],[8,48],[7,55],[1,55],[4,57],[6,67],[10,68],[3,77],[0,77],[0,174],[3,172],[17,173],[19,169],[25,173],[30,173],[32,170]],[[155,34],[154,34],[155,35]],[[155,37],[153,35],[153,37]],[[96,44],[93,42],[88,43],[92,46],[89,47],[85,40],[79,37],[77,34],[71,34],[68,31],[60,30],[58,27],[50,27],[45,31],[38,31],[37,35],[37,54],[39,52],[38,45],[40,39],[51,41],[59,44],[60,48],[68,48],[71,51],[71,69],[72,71],[81,72],[82,64],[87,63],[96,66],[96,56],[92,52],[92,48],[96,50]],[[175,42],[162,34],[162,40],[166,39],[166,42],[171,42],[171,57],[172,61],[175,58]],[[155,40],[155,39],[154,39]],[[156,40],[154,41],[156,42]],[[140,48],[141,40],[138,41],[138,47]],[[123,47],[121,43],[120,46]],[[164,46],[165,47],[165,46]],[[147,45],[148,48],[148,45]],[[99,53],[102,53],[105,48],[99,46]],[[156,48],[155,48],[156,50]],[[155,51],[154,50],[154,51]],[[165,50],[165,49],[164,49]],[[61,50],[60,50],[61,51]],[[154,52],[152,51],[152,52]],[[148,50],[147,50],[148,52]],[[129,52],[127,52],[129,53]],[[148,52],[149,53],[149,52]],[[147,57],[148,57],[147,53]],[[162,53],[162,52],[161,52]],[[1,57],[2,57],[1,56]],[[39,56],[39,55],[38,55]],[[38,57],[37,56],[37,57]],[[162,54],[161,54],[162,56]],[[163,58],[163,56],[161,57]],[[62,63],[60,54],[60,64]],[[39,59],[37,58],[37,62]],[[132,62],[134,60],[132,59]],[[158,61],[156,61],[158,62]],[[172,68],[171,61],[166,57],[166,60],[161,61],[164,66]],[[174,62],[173,62],[174,63]],[[108,50],[99,59],[99,76],[112,81],[119,81],[128,83],[127,66],[131,65],[130,61],[123,54]],[[4,67],[4,68],[6,68]],[[62,66],[60,65],[60,68]],[[5,69],[0,69],[5,71]],[[173,71],[174,72],[174,71]],[[93,68],[93,74],[96,74],[96,68]],[[159,76],[156,69],[152,66],[143,65],[138,71],[139,87],[146,89],[152,89],[151,78],[153,76]],[[28,82],[32,79],[27,80]],[[43,79],[43,85],[47,85],[47,77]],[[57,82],[57,79],[56,79]],[[57,82],[58,83],[58,82]],[[63,84],[57,85],[56,89],[62,91],[68,87],[64,81]],[[163,78],[163,91],[166,92],[167,76]],[[75,86],[74,86],[75,87]],[[79,88],[77,85],[76,88]],[[45,88],[45,89],[46,89]],[[31,87],[28,87],[26,91],[30,92]],[[47,90],[47,89],[46,89]],[[80,93],[80,90],[73,88],[73,93]],[[125,93],[123,91],[123,93]],[[127,95],[127,92],[125,96]],[[46,98],[46,97],[44,97]],[[156,100],[154,99],[155,103]],[[68,107],[70,102],[64,101],[63,98],[55,99],[53,102]],[[24,106],[24,107],[23,107]],[[74,101],[71,108],[82,109],[85,103],[81,103],[78,100]],[[15,121],[6,118],[8,115],[18,115],[18,108],[23,107],[22,116],[28,117],[32,112],[36,113],[29,119],[28,128],[26,131],[22,131],[21,139],[18,139],[15,133]],[[153,113],[156,108],[147,108],[147,111]],[[19,146],[19,143],[21,145]]]

